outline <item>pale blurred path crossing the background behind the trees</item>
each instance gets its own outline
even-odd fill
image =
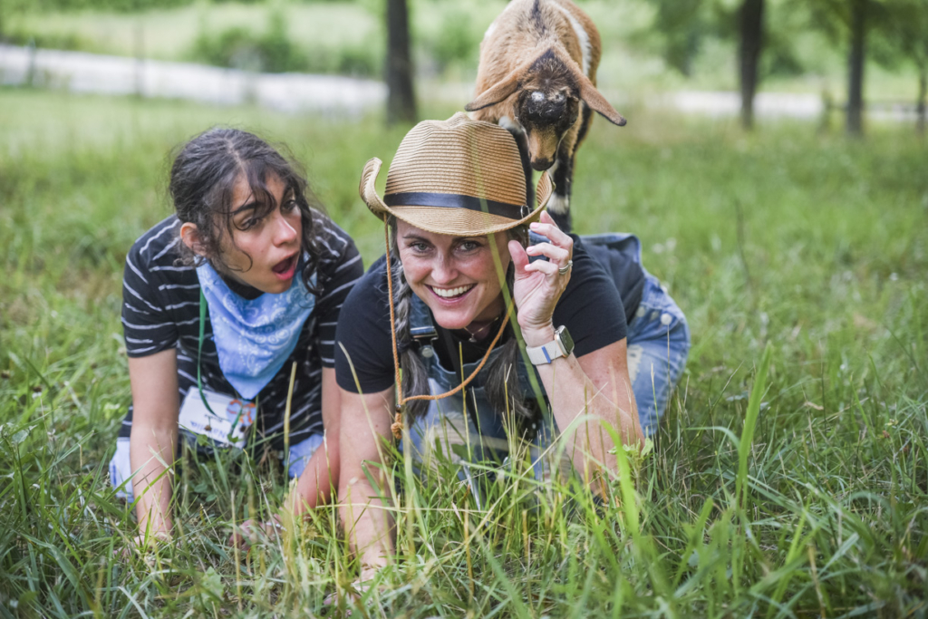
[[[187,62],[125,58],[0,45],[0,84],[58,88],[73,93],[138,95],[177,98],[219,105],[257,104],[270,110],[316,112],[356,117],[377,110],[387,97],[380,81],[341,75],[308,73],[261,73]],[[440,86],[445,99],[467,101],[470,83]],[[621,100],[621,94],[611,97]],[[653,94],[642,101],[648,107],[669,108],[713,117],[741,113],[736,92],[683,90]],[[760,118],[814,120],[826,102],[809,93],[759,93],[754,114]],[[870,117],[914,121],[915,110],[907,105],[873,106]]]

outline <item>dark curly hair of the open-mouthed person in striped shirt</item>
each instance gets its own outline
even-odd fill
[[[280,150],[288,156],[281,155]],[[171,166],[168,191],[177,218],[197,226],[200,243],[213,264],[230,268],[219,257],[219,242],[226,234],[235,244],[232,197],[242,174],[260,204],[255,213],[258,216],[279,206],[267,188],[270,175],[277,175],[284,187],[292,190],[303,224],[301,250],[309,255],[303,264],[303,282],[317,293],[310,282],[319,263],[319,234],[325,229],[318,220],[325,213],[286,147],[274,148],[257,135],[229,127],[214,127],[197,135],[180,148]],[[182,264],[200,264],[203,260],[184,243],[177,243],[177,247]]]

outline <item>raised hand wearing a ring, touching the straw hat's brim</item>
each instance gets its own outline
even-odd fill
[[[518,241],[509,241],[509,254],[515,264],[515,283],[512,295],[518,309],[519,327],[529,346],[542,346],[554,339],[551,317],[571,279],[568,270],[574,257],[574,239],[561,232],[547,212],[541,213],[532,231],[547,237],[547,243],[530,245],[523,249]],[[530,256],[546,256],[548,261],[529,262]]]

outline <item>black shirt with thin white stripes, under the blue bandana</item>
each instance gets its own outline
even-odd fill
[[[322,432],[322,368],[334,366],[339,312],[354,282],[364,275],[361,255],[351,237],[325,215],[314,214],[322,251],[316,276],[320,288],[316,306],[306,319],[290,358],[258,395],[255,431],[258,440],[267,437],[273,449],[281,448],[284,442],[284,411],[294,361],[298,369],[290,405],[290,445]],[[176,216],[168,217],[136,240],[126,256],[122,329],[130,357],[177,349],[178,396],[183,402],[189,389],[197,389],[200,280],[195,267],[178,263],[179,227]],[[209,313],[205,318],[200,369],[204,389],[236,394],[219,368]],[[132,406],[122,422],[120,436],[129,436],[131,430]]]

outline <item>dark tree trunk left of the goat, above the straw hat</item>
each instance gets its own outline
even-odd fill
[[[387,0],[387,123],[415,123],[406,0]]]

